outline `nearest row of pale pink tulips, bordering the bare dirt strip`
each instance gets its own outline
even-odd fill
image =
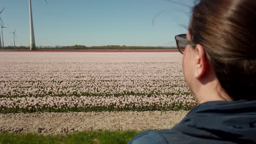
[[[189,110],[196,105],[187,95],[124,95],[121,97],[0,98],[0,112]]]

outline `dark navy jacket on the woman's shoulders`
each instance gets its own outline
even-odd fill
[[[200,104],[172,129],[144,131],[129,142],[138,143],[256,143],[256,101]]]

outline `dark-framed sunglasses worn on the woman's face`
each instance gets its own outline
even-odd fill
[[[183,54],[187,45],[196,46],[196,44],[192,43],[187,39],[187,34],[179,34],[175,36],[176,44],[179,52]]]

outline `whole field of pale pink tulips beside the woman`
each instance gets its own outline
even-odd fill
[[[190,110],[178,52],[0,52],[0,112]]]

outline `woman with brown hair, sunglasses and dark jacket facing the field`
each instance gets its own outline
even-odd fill
[[[256,143],[256,1],[201,0],[176,36],[199,105],[169,130],[129,143]],[[184,50],[184,51],[183,51]]]

